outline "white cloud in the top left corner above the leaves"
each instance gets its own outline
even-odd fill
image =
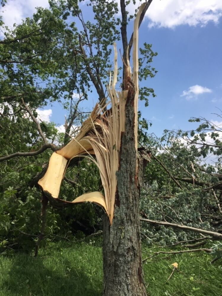
[[[12,28],[14,23],[19,24],[25,17],[32,16],[36,7],[49,7],[48,0],[8,0],[5,6],[0,8],[0,15],[5,25]],[[0,36],[3,36],[1,31]]]

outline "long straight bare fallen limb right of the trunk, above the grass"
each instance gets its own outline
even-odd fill
[[[145,219],[145,218],[140,218],[140,221],[148,222],[151,224],[157,224],[157,225],[163,225],[163,226],[168,226],[168,227],[174,227],[174,228],[179,228],[183,230],[188,230],[188,231],[194,231],[197,233],[202,233],[205,235],[209,235],[213,237],[214,239],[222,240],[222,234],[211,231],[211,230],[205,230],[205,229],[200,229],[196,227],[191,227],[191,226],[186,226],[186,225],[180,225],[176,223],[170,223],[170,222],[164,222],[164,221],[156,221],[156,220],[150,220],[150,219]]]

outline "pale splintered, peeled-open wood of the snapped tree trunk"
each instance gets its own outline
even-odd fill
[[[134,111],[135,123],[134,133],[137,139],[137,106],[139,97],[138,87],[138,27],[141,12],[146,3],[142,4],[134,21],[133,32],[133,77],[129,61],[127,61],[127,74],[125,83],[128,90],[131,85],[135,88]],[[101,205],[106,211],[110,224],[112,225],[115,192],[117,186],[116,172],[119,169],[119,151],[121,134],[125,131],[125,104],[128,90],[116,91],[117,82],[117,49],[114,43],[114,74],[112,85],[107,86],[108,95],[111,101],[111,108],[104,111],[99,104],[96,104],[89,118],[84,121],[78,135],[65,147],[54,152],[49,160],[46,174],[38,181],[44,194],[53,203],[80,203],[95,202]],[[137,141],[135,141],[137,149]],[[75,198],[72,202],[60,200],[59,190],[65,175],[67,165],[74,157],[90,157],[99,168],[99,173],[104,188],[104,195],[101,192],[90,192]],[[96,160],[91,155],[95,155]]]

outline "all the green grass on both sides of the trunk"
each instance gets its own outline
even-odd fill
[[[144,247],[143,257],[157,250],[160,249]],[[212,257],[206,253],[186,253],[165,259],[161,256],[166,255],[144,263],[147,292],[151,296],[222,295],[222,259],[212,265]],[[178,271],[167,281],[174,262],[178,263]],[[50,243],[40,249],[38,258],[23,253],[0,256],[0,296],[99,296],[102,277],[99,241]]]

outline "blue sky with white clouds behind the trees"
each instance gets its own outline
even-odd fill
[[[35,6],[48,4],[46,0],[30,0],[25,5],[22,0],[9,0],[4,8],[5,23],[19,23],[32,15]],[[133,12],[133,5],[129,9]],[[83,6],[83,14],[84,10]],[[165,128],[192,129],[195,125],[188,122],[192,116],[218,120],[212,113],[222,109],[221,0],[153,0],[139,42],[151,43],[158,52],[153,61],[158,73],[146,82],[157,97],[150,97],[149,107],[139,102],[143,117],[152,121],[149,132],[161,136]],[[89,109],[96,97],[89,99]],[[64,124],[65,110],[59,104],[46,109],[40,112],[46,120]]]

